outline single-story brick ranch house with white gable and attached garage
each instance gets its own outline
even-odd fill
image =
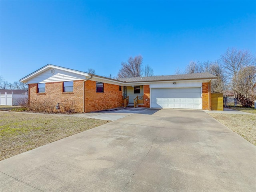
[[[217,77],[196,74],[110,79],[48,64],[22,78],[29,100],[73,100],[80,112],[124,106],[124,98],[138,107],[210,110],[210,82]]]

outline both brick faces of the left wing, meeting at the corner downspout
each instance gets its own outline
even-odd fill
[[[83,112],[83,80],[74,81],[73,92],[62,92],[63,82],[45,84],[45,93],[36,93],[37,84],[29,84],[29,99],[32,101],[57,103],[74,101],[76,112]],[[104,83],[104,92],[96,93],[96,82],[85,82],[85,112],[106,110],[122,106],[122,91],[118,85]],[[62,108],[62,106],[61,106]],[[61,109],[60,109],[61,110]]]

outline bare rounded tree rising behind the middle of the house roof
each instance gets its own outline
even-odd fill
[[[127,62],[122,62],[122,68],[118,72],[118,78],[131,78],[142,76],[142,61],[141,55],[130,57]]]

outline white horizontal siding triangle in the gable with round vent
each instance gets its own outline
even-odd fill
[[[28,80],[31,83],[48,83],[48,82],[62,82],[62,81],[76,81],[85,80],[85,76],[75,74],[72,72],[54,69],[54,74],[51,74],[51,69],[39,74],[38,76]]]

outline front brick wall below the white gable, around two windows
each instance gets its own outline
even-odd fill
[[[30,103],[38,101],[54,106],[57,103],[65,103],[68,106],[74,101],[73,108],[76,112],[83,112],[83,80],[73,82],[73,92],[65,93],[62,89],[63,82],[51,82],[45,84],[45,93],[36,93],[37,84],[29,84]]]

